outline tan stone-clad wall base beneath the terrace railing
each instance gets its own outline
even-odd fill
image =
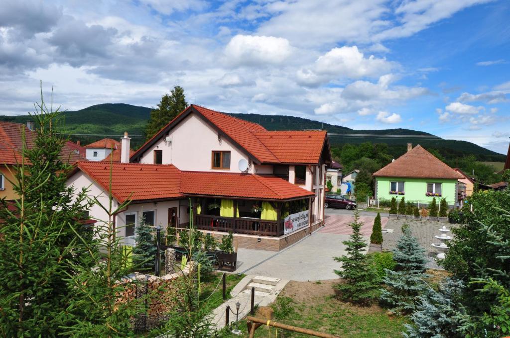
[[[319,229],[324,224],[323,221],[316,222],[312,224],[312,232]],[[221,241],[221,237],[226,235],[224,232],[219,231],[208,231],[208,230],[200,230],[205,234],[211,234],[216,240]],[[242,247],[245,249],[257,249],[257,250],[269,250],[269,251],[279,251],[283,250],[289,245],[292,245],[304,238],[305,236],[310,235],[310,227],[304,228],[302,230],[296,231],[290,235],[284,235],[280,237],[265,237],[265,236],[253,236],[253,235],[242,235],[242,234],[234,234],[234,246]],[[260,238],[260,242],[258,239]]]

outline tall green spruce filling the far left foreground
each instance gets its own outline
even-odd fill
[[[85,189],[67,188],[71,165],[61,158],[59,109],[36,105],[33,146],[23,142],[11,168],[18,199],[0,200],[0,335],[56,336],[69,302],[65,278],[75,273],[84,246],[80,222],[88,209]],[[20,132],[24,129],[20,128]],[[24,139],[24,135],[23,135]],[[69,264],[71,263],[71,265]]]

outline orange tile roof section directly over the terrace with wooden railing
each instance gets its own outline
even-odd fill
[[[314,193],[275,176],[182,172],[181,191],[189,195],[289,200]]]

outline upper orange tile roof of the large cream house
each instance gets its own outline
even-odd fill
[[[326,142],[326,131],[268,131],[259,124],[192,104],[140,147],[134,156],[143,154],[174,123],[193,111],[198,112],[260,163],[315,164],[319,162]]]

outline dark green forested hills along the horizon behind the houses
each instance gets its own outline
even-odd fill
[[[71,139],[80,139],[82,144],[88,144],[104,136],[84,136],[75,134],[114,134],[120,135],[124,131],[130,134],[144,134],[144,127],[149,119],[151,108],[134,106],[124,103],[96,104],[77,111],[64,112],[66,132],[74,134]],[[372,134],[372,135],[428,135],[431,134],[411,129],[384,129],[384,130],[354,130],[347,127],[322,123],[293,116],[261,115],[261,114],[231,114],[240,119],[256,122],[268,130],[289,129],[325,129],[329,133],[338,134]],[[30,116],[0,116],[0,121],[25,123]],[[134,147],[144,142],[144,137],[132,137]],[[360,136],[330,136],[331,146],[340,146],[345,143],[359,144],[363,142],[386,143],[390,153],[395,157],[405,152],[406,143],[420,144],[425,148],[435,148],[447,159],[464,155],[476,155],[480,161],[501,162],[505,156],[485,149],[471,142],[446,139],[406,139],[396,137],[360,137]]]

